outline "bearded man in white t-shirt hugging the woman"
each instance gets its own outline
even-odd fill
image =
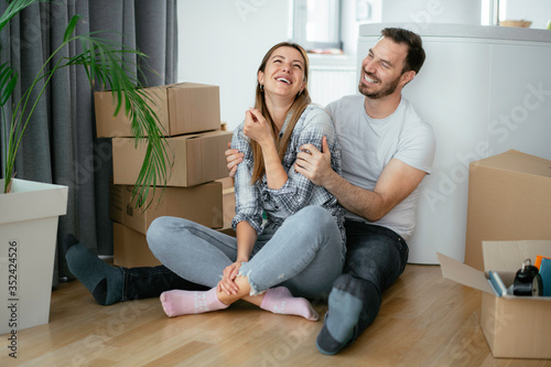
[[[307,144],[298,155],[295,170],[324,186],[347,211],[347,259],[328,296],[316,339],[321,353],[338,353],[371,324],[382,291],[406,267],[419,184],[431,171],[435,150],[431,127],[401,96],[423,62],[419,35],[382,30],[361,63],[361,95],[327,106],[342,148],[342,176],[331,169],[325,141],[322,152]],[[226,154],[234,172],[239,153]]]

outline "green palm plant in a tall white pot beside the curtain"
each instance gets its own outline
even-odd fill
[[[36,0],[13,0],[0,15],[0,32],[11,19]],[[133,136],[148,136],[147,155],[134,185],[133,194],[148,202],[148,192],[166,182],[168,151],[158,117],[148,96],[138,88],[137,72],[132,73],[125,53],[144,57],[142,53],[98,37],[98,33],[75,35],[79,17],[71,19],[63,42],[52,52],[39,74],[19,100],[13,100],[18,73],[9,62],[0,65],[0,118],[11,104],[12,118],[3,120],[3,179],[0,180],[0,296],[11,307],[0,310],[0,334],[47,323],[57,218],[66,213],[67,187],[30,182],[15,177],[14,162],[25,129],[52,76],[61,68],[84,67],[90,87],[111,89],[117,111],[129,116]],[[69,44],[77,43],[80,53],[60,57]],[[1,45],[0,45],[1,47]],[[55,60],[55,63],[54,63]],[[91,111],[90,111],[91,112]],[[32,121],[32,122],[31,122]],[[13,322],[3,322],[11,321]]]

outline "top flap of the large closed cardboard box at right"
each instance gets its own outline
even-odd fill
[[[551,179],[551,161],[514,149],[471,164]]]

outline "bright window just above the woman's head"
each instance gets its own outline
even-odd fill
[[[341,0],[293,0],[293,41],[304,48],[342,48]]]

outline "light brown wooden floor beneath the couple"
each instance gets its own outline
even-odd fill
[[[169,319],[158,299],[97,305],[78,282],[52,294],[47,325],[20,331],[18,359],[1,336],[0,366],[551,366],[496,359],[479,327],[480,294],[442,279],[437,266],[407,267],[383,294],[375,323],[336,356],[317,352],[322,321],[245,302]],[[315,304],[323,317],[326,304]]]

